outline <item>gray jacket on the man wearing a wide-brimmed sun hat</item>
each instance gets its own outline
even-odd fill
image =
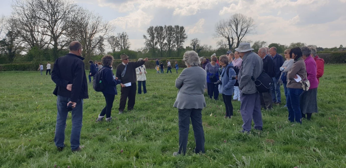
[[[256,79],[260,76],[262,70],[262,59],[256,53],[249,52],[243,57],[243,65],[238,74],[239,89],[242,90],[242,93],[253,94],[257,92],[255,82],[251,77],[253,76]]]

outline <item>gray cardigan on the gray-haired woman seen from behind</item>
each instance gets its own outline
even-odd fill
[[[179,89],[173,107],[178,109],[203,109],[206,106],[204,88],[207,72],[199,66],[185,68],[175,80]]]

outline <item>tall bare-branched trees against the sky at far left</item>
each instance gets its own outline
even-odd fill
[[[0,34],[6,36],[0,42],[1,55],[12,62],[21,53],[40,50],[40,59],[52,50],[51,60],[66,50],[69,43],[78,40],[83,45],[83,55],[104,54],[104,42],[111,44],[112,51],[128,49],[126,32],[111,35],[115,29],[99,14],[84,9],[69,0],[13,0],[10,16],[1,17]]]

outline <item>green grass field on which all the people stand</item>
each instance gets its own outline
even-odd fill
[[[118,86],[111,123],[95,123],[105,102],[102,93],[89,85],[81,132],[85,148],[72,153],[70,114],[67,147],[58,152],[54,145],[57,110],[50,76],[0,72],[0,167],[346,167],[345,67],[326,65],[318,88],[319,113],[301,125],[288,122],[288,112],[280,105],[262,111],[263,132],[241,134],[240,103],[233,102],[234,117],[225,119],[222,100],[206,98],[202,111],[206,154],[192,153],[190,126],[188,151],[178,157],[172,155],[178,150],[178,115],[173,108],[177,74],[149,69],[148,93],[137,95],[135,110],[122,115],[118,115]],[[281,93],[284,100],[283,88]]]

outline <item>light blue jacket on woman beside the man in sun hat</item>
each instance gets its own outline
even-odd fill
[[[236,76],[236,72],[234,71],[233,68],[228,69],[228,67],[230,66],[233,66],[233,64],[229,63],[226,67],[224,67],[220,75],[222,84],[219,85],[219,92],[225,95],[233,94],[234,84],[236,83],[236,80],[232,79],[232,76]],[[229,76],[227,76],[227,72],[226,72],[227,69],[228,69]]]

